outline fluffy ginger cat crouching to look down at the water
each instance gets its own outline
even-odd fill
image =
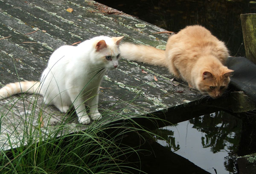
[[[121,55],[131,61],[167,67],[177,78],[187,81],[189,87],[220,97],[230,82],[229,70],[224,63],[229,55],[222,41],[203,26],[187,26],[172,35],[166,50],[152,46],[124,43]]]

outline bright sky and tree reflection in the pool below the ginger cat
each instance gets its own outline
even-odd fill
[[[175,151],[206,171],[236,174],[236,151],[241,137],[241,120],[217,112],[158,130],[161,145]],[[214,169],[213,169],[214,168]]]

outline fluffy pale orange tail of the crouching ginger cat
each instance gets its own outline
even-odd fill
[[[124,43],[119,46],[121,56],[130,61],[166,67],[165,51],[153,46]]]

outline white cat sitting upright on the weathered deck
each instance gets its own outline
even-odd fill
[[[99,120],[99,86],[105,70],[118,66],[122,38],[99,36],[77,46],[61,46],[49,58],[40,82],[7,84],[0,89],[0,99],[17,93],[38,93],[46,104],[55,105],[63,113],[73,104],[81,124],[90,123],[84,104],[90,107],[91,119]]]

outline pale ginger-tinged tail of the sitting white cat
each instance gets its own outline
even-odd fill
[[[39,81],[20,81],[7,84],[0,89],[0,100],[19,93],[40,94]]]

